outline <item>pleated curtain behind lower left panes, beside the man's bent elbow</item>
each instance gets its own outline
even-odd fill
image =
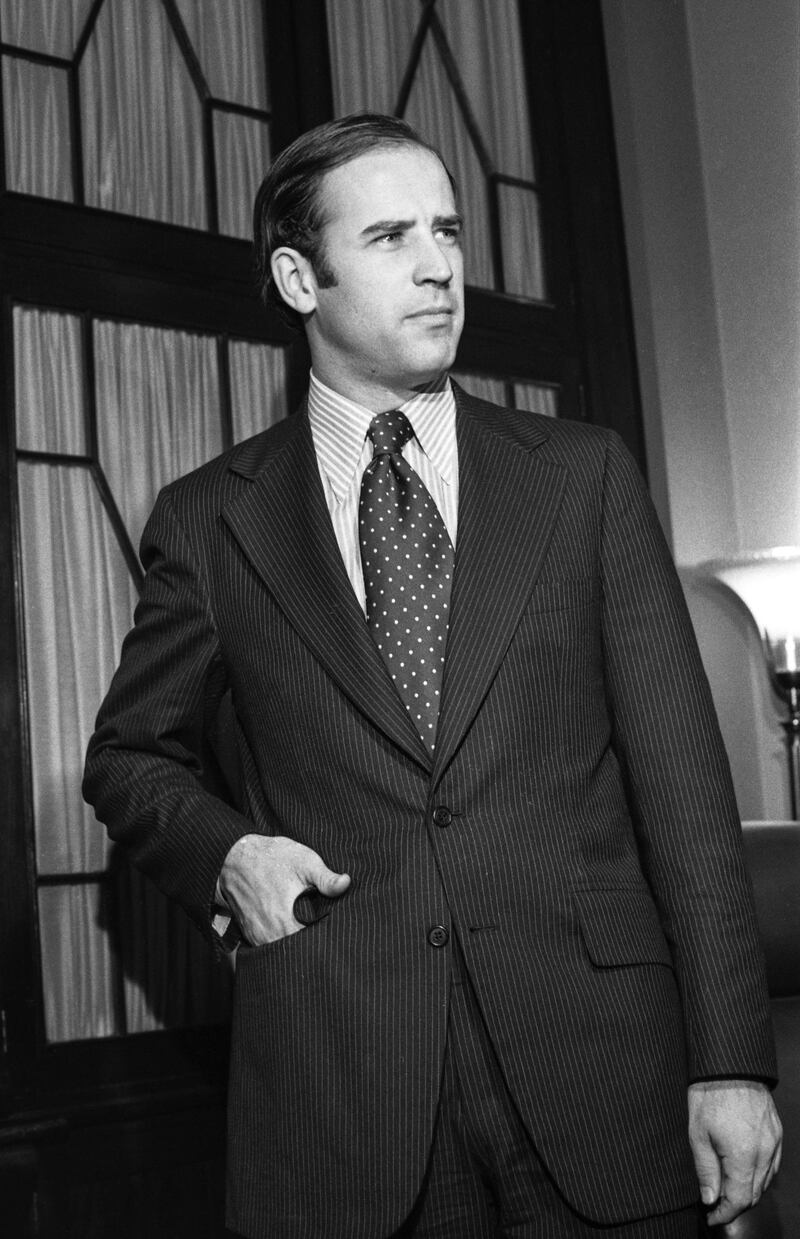
[[[82,323],[14,312],[27,722],[51,1041],[207,1022],[229,975],[183,913],[109,846],[80,798],[94,715],[135,589],[87,461]],[[157,491],[222,449],[218,341],[97,321],[99,466],[137,541]],[[234,439],[286,413],[281,348],[230,341]],[[48,453],[58,453],[53,461]],[[72,460],[69,458],[72,457]]]

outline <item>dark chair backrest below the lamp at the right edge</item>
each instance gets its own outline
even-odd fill
[[[746,821],[742,829],[769,992],[800,995],[800,823]]]

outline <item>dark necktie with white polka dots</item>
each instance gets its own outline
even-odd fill
[[[401,455],[404,413],[373,418],[358,534],[367,622],[411,720],[432,752],[445,665],[453,546],[425,483]]]

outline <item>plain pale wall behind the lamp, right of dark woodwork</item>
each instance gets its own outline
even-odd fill
[[[650,484],[748,819],[781,707],[706,559],[800,544],[800,6],[603,0]]]

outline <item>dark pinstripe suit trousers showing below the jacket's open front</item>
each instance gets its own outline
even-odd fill
[[[422,1192],[395,1239],[696,1239],[700,1209],[593,1225],[565,1202],[500,1073],[453,940],[440,1108]]]

